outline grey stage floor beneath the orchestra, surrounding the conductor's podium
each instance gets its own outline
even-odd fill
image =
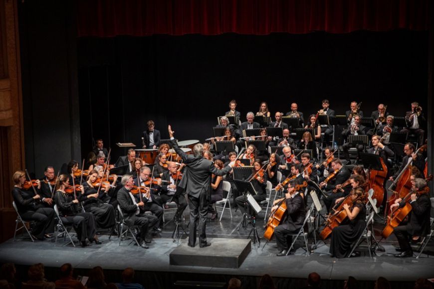
[[[230,219],[229,212],[225,212],[221,222],[209,220],[207,233],[209,242],[213,238],[247,238],[250,227],[247,230],[240,228],[236,231],[236,225],[240,221],[239,211],[232,210],[233,218]],[[188,209],[185,212],[188,216]],[[167,213],[166,221],[172,218]],[[259,235],[263,234],[263,213],[260,213],[257,221]],[[218,216],[219,217],[219,216]],[[262,219],[262,220],[260,220]],[[11,224],[12,225],[12,224]],[[46,267],[58,268],[63,263],[71,263],[75,268],[92,268],[102,266],[104,269],[123,270],[126,267],[134,267],[139,271],[152,272],[186,272],[196,274],[223,274],[232,276],[262,276],[269,274],[281,278],[307,278],[311,272],[317,272],[323,280],[345,280],[348,276],[354,276],[358,280],[376,280],[383,276],[390,281],[415,281],[418,278],[433,278],[434,267],[434,246],[433,242],[427,247],[426,253],[421,258],[394,258],[395,242],[393,236],[387,242],[381,242],[385,252],[377,253],[373,259],[369,258],[367,247],[362,245],[359,249],[361,257],[336,259],[329,255],[328,243],[318,242],[318,248],[309,257],[300,247],[302,240],[296,245],[296,252],[287,257],[276,257],[277,248],[275,242],[265,244],[261,239],[261,246],[251,244],[251,252],[238,269],[217,268],[217,267],[189,267],[171,266],[169,254],[177,246],[187,246],[187,239],[184,236],[178,242],[173,242],[171,235],[174,230],[174,223],[165,225],[162,233],[154,237],[149,249],[138,248],[123,241],[119,246],[119,239],[108,235],[101,235],[102,245],[91,245],[86,248],[73,248],[72,245],[61,246],[63,240],[58,241],[36,241],[31,243],[23,234],[19,235],[16,241],[8,240],[0,244],[0,261],[13,262],[18,265],[30,265],[43,263]],[[379,235],[381,224],[376,223],[376,235]],[[380,239],[380,238],[377,238]],[[414,247],[416,248],[416,247]],[[197,246],[198,252],[201,250]],[[415,252],[416,253],[416,252]],[[415,255],[416,256],[416,255]]]

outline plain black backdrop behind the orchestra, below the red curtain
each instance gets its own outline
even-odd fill
[[[315,32],[266,36],[223,34],[79,38],[82,153],[92,137],[140,145],[146,121],[167,138],[203,141],[235,99],[242,120],[266,101],[272,115],[292,102],[305,115],[327,98],[338,114],[352,100],[365,115],[381,102],[403,116],[427,103],[428,32]]]

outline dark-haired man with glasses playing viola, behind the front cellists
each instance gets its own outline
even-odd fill
[[[327,211],[330,211],[331,206],[334,205],[337,198],[342,197],[342,195],[339,195],[338,193],[333,193],[333,189],[336,188],[336,185],[340,185],[348,180],[351,175],[351,172],[343,167],[342,161],[339,158],[334,158],[330,165],[333,172],[338,170],[337,173],[328,182],[323,181],[319,184],[321,189],[327,190],[325,194],[328,198],[323,198]]]

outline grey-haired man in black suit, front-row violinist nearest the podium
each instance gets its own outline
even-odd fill
[[[121,183],[123,187],[118,191],[117,199],[124,221],[128,226],[137,225],[139,227],[139,244],[141,247],[148,249],[149,247],[146,244],[151,241],[146,239],[146,235],[148,229],[153,228],[157,224],[158,218],[153,215],[144,215],[140,212],[140,208],[143,208],[145,203],[143,201],[137,202],[135,196],[130,192],[134,185],[132,175],[123,175]]]

